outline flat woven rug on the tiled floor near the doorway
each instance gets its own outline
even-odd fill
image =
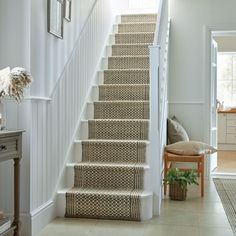
[[[229,223],[236,235],[236,179],[213,179]]]

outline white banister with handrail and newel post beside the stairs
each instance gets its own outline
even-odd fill
[[[166,140],[169,47],[169,0],[160,0],[153,46],[150,49],[150,162],[154,214],[160,214],[163,149]],[[158,157],[158,158],[157,158]],[[155,180],[155,181],[154,181]]]

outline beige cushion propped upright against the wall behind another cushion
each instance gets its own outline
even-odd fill
[[[175,117],[174,119],[167,119],[167,135],[170,144],[180,141],[189,141],[187,132]]]

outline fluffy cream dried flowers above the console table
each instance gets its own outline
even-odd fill
[[[0,100],[6,96],[20,102],[24,95],[24,88],[28,87],[33,78],[24,68],[7,67],[0,71]]]

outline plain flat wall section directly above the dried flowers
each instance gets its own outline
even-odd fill
[[[30,0],[0,1],[0,69],[30,68]]]

